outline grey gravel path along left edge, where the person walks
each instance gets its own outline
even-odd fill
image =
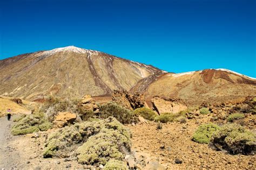
[[[12,124],[6,117],[0,118],[0,169],[16,169],[20,160],[19,153],[10,145],[16,138],[10,133]]]

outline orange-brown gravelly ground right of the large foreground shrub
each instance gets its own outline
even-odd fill
[[[158,158],[167,169],[256,169],[256,155],[231,155],[192,141],[197,126],[204,122],[200,119],[184,124],[167,123],[160,130],[154,122],[128,127],[134,150]],[[176,164],[176,158],[182,164]]]

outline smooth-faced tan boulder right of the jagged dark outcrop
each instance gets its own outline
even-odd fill
[[[187,109],[187,106],[184,104],[184,102],[179,99],[162,98],[154,96],[151,102],[153,110],[157,111],[158,114],[164,112],[172,112],[175,114],[179,111]]]

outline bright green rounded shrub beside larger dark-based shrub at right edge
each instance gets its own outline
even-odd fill
[[[219,130],[219,126],[212,123],[200,125],[194,132],[192,140],[201,144],[208,144],[213,132],[217,130]]]

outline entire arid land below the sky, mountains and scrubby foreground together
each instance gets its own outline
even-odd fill
[[[0,168],[256,167],[253,77],[74,46],[0,60],[0,73]]]

